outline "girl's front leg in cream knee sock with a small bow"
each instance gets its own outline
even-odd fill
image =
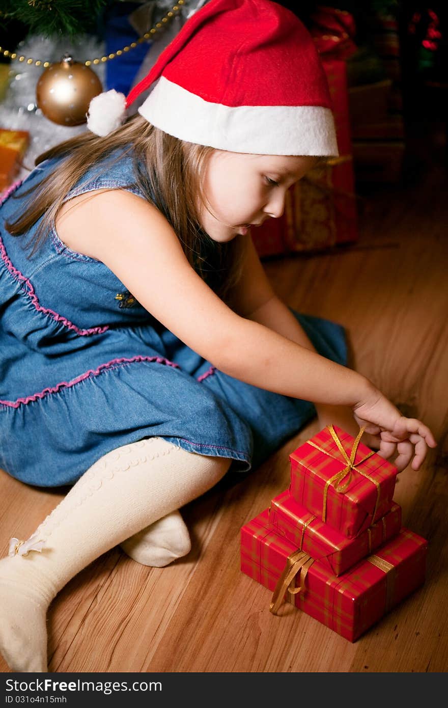
[[[124,445],[93,464],[30,543],[0,561],[0,651],[11,669],[47,671],[45,616],[59,590],[110,548],[205,493],[230,464],[163,438]],[[39,545],[41,552],[23,554]]]

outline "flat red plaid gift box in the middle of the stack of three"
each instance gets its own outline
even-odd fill
[[[377,523],[356,538],[348,539],[300,506],[289,491],[283,491],[270,503],[269,524],[295,548],[306,551],[338,576],[398,534],[401,529],[401,506],[394,504]]]

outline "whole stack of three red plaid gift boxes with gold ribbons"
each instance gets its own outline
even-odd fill
[[[241,529],[241,571],[355,641],[425,581],[427,542],[401,526],[397,469],[338,426],[289,455],[289,489]]]

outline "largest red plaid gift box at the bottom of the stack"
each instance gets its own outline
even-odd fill
[[[266,509],[241,528],[241,571],[273,592],[296,547],[268,523]],[[341,576],[314,561],[300,592],[285,592],[285,598],[345,639],[356,641],[424,583],[426,552],[425,539],[402,528],[374,555]]]

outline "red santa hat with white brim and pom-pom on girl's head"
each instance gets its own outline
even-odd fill
[[[211,0],[127,97],[92,99],[96,135],[156,82],[138,112],[187,142],[230,152],[337,156],[331,98],[308,30],[270,0]]]

